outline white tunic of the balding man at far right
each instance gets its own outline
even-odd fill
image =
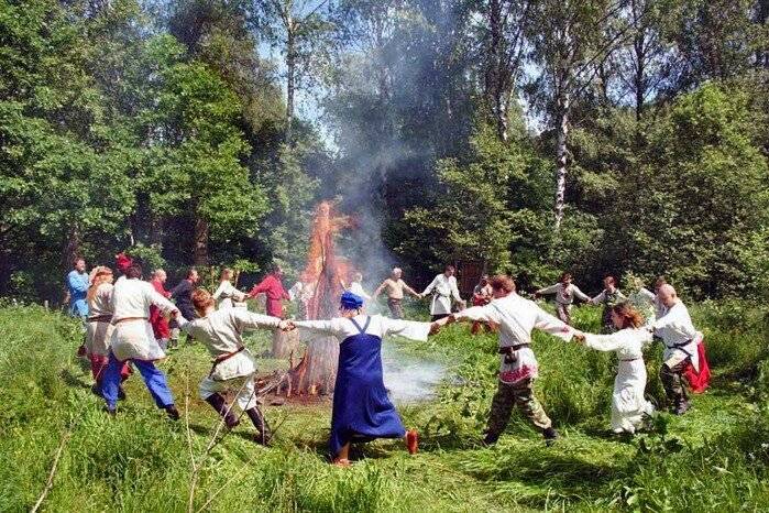
[[[702,334],[694,329],[689,310],[681,299],[675,299],[673,306],[655,321],[652,328],[655,335],[664,342],[662,360],[668,367],[673,367],[685,360],[686,357],[691,357],[692,365],[697,372],[700,371],[696,346],[702,340]]]

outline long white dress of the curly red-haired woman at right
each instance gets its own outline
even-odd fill
[[[585,334],[585,346],[598,351],[615,351],[619,359],[617,376],[612,394],[612,429],[616,433],[635,433],[655,407],[644,397],[646,364],[644,346],[651,342],[648,328],[627,328],[612,335]]]

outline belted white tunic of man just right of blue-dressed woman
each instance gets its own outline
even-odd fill
[[[457,319],[481,320],[499,327],[499,347],[516,347],[531,342],[531,330],[541,329],[563,340],[571,340],[574,330],[565,323],[551,316],[536,303],[510,293],[506,297],[492,299],[484,306],[473,306],[454,314]],[[529,347],[514,351],[512,363],[505,362],[505,354],[499,356],[499,379],[506,383],[516,383],[539,375],[539,368],[534,351]]]

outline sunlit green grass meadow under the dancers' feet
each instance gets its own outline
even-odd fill
[[[328,465],[328,402],[267,406],[272,447],[250,423],[207,451],[218,418],[197,399],[208,372],[200,346],[162,363],[179,422],[151,403],[138,375],[116,418],[89,390],[75,357],[77,324],[39,307],[0,309],[0,511],[30,511],[57,454],[42,511],[767,511],[769,361],[766,313],[740,303],[692,308],[715,376],[682,416],[659,415],[634,438],[607,435],[615,357],[537,335],[540,400],[562,438],[546,447],[514,413],[493,447],[480,444],[496,386],[496,340],[451,326],[428,342],[398,341],[409,356],[448,368],[435,399],[400,408],[420,432],[414,457],[402,443],[355,448],[350,469]],[[600,309],[575,323],[598,329]],[[249,346],[259,354],[268,334]],[[661,348],[649,348],[647,393],[661,404]],[[261,370],[285,367],[262,359]],[[193,471],[193,463],[198,469]]]

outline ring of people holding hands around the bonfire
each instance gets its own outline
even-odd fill
[[[655,337],[664,346],[659,376],[672,413],[681,415],[689,410],[688,385],[693,392],[701,392],[710,378],[703,336],[694,328],[675,290],[662,277],[656,281],[655,292],[636,284],[638,292],[628,298],[617,288],[615,279],[607,276],[604,290],[591,298],[572,283],[569,273],[563,273],[559,283],[535,293],[535,297],[554,295],[557,315],[552,316],[519,295],[515,282],[506,275],[484,275],[473,292],[473,306],[468,308],[452,265],[447,265],[422,293],[409,287],[402,270],[395,268],[373,296],[364,292],[362,275],[355,273],[352,283],[344,286],[338,317],[295,320],[285,318],[283,299],[301,302],[303,296],[297,293],[301,287],[285,291],[279,268],[274,268],[249,293],[233,286],[233,273],[224,269],[219,287],[210,294],[196,287],[199,276],[195,269],[176,287],[166,291],[163,270],[154,271],[151,282],[145,282],[141,264],[124,253],[116,256],[116,266],[121,274],[118,280],[103,265],[86,273],[86,262],[77,259],[67,275],[70,313],[86,326],[86,341],[78,353],[90,360],[92,391],[103,397],[110,415],[116,415],[118,401],[125,399],[122,382],[133,368],[157,407],[172,419],[179,418],[166,375],[155,362],[166,357],[183,331],[189,340],[206,346],[212,358],[210,372],[199,384],[200,399],[211,405],[228,428],[248,415],[256,429],[255,440],[267,445],[271,432],[256,401],[256,362],[243,342],[243,332],[299,328],[334,336],[340,341],[340,353],[329,445],[332,462],[338,466],[350,465],[349,450],[354,441],[403,438],[408,451],[417,452],[418,434],[406,430],[384,385],[381,349],[387,335],[424,341],[455,321],[472,323],[473,334],[482,326],[498,334],[498,383],[483,438],[486,445],[496,443],[503,434],[514,406],[542,433],[548,445],[559,437],[534,393],[539,373],[531,348],[535,329],[598,351],[616,352],[618,371],[611,413],[615,434],[636,433],[655,413],[644,395],[647,372],[642,354]],[[376,301],[383,292],[391,317],[369,315],[364,302]],[[245,305],[248,298],[262,293],[266,295],[266,315],[250,312]],[[417,298],[431,295],[429,323],[404,319],[402,303],[406,293]],[[571,326],[571,307],[578,298],[604,305],[603,334],[583,332]],[[648,319],[639,313],[645,305],[655,310]],[[228,404],[223,394],[233,390],[234,402]],[[234,403],[242,412],[240,416],[234,414]]]

